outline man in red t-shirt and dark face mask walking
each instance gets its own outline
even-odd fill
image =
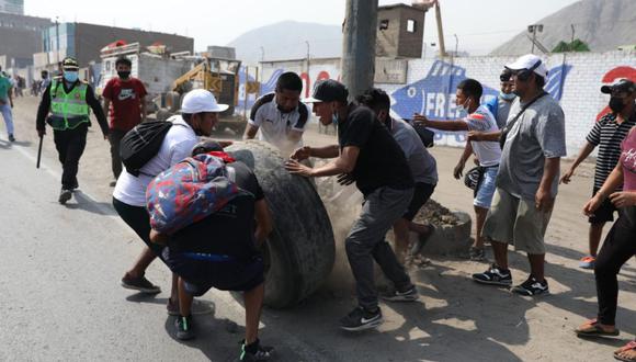
[[[130,76],[133,63],[122,56],[115,60],[117,77],[109,80],[104,87],[104,115],[111,116],[109,142],[111,143],[111,163],[115,180],[122,173],[120,145],[126,133],[146,121],[146,87]],[[116,181],[111,182],[114,186]]]

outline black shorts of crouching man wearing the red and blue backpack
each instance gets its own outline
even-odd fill
[[[261,285],[264,279],[264,263],[260,254],[249,260],[208,261],[192,258],[184,252],[163,250],[166,263],[173,273],[185,281],[185,290],[201,296],[211,289],[247,292]]]

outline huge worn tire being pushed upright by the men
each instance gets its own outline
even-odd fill
[[[274,219],[263,250],[265,305],[293,306],[315,292],[333,268],[329,215],[309,180],[284,169],[276,148],[248,140],[226,150],[254,171]]]

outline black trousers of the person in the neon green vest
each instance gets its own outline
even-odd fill
[[[57,149],[57,156],[61,163],[61,188],[73,190],[78,188],[77,171],[79,160],[87,146],[87,133],[89,126],[80,124],[75,129],[54,131],[53,140]]]

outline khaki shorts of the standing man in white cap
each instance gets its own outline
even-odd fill
[[[543,254],[550,216],[552,210],[540,212],[534,200],[518,199],[497,188],[482,233],[490,240],[514,245],[515,250]]]

